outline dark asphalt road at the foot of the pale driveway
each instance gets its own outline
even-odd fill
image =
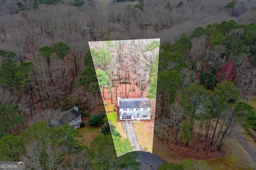
[[[142,170],[156,170],[159,164],[165,162],[162,158],[157,156],[156,154],[145,152],[145,151],[137,151],[139,156],[137,161],[141,163]],[[150,167],[152,165],[152,167]]]

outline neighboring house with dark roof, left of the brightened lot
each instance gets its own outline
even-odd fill
[[[74,128],[80,127],[80,123],[82,122],[81,114],[78,112],[78,107],[75,106],[72,109],[64,111],[54,119],[51,119],[52,126],[58,125],[62,126],[64,124],[69,124],[70,126],[74,126]]]

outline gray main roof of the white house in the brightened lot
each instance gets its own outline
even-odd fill
[[[120,109],[150,108],[150,99],[146,99],[146,98],[120,99],[119,108]]]

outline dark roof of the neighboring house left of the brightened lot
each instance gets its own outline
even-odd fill
[[[68,124],[74,119],[82,116],[78,111],[76,111],[74,108],[69,109],[63,113],[61,113],[58,117],[55,118],[55,120],[59,123],[59,125]]]

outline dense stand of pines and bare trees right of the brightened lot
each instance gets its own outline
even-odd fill
[[[162,44],[155,133],[177,153],[185,147],[185,155],[194,149],[210,157],[225,148],[236,124],[256,130],[247,104],[256,92],[255,30],[255,23],[224,21]]]

